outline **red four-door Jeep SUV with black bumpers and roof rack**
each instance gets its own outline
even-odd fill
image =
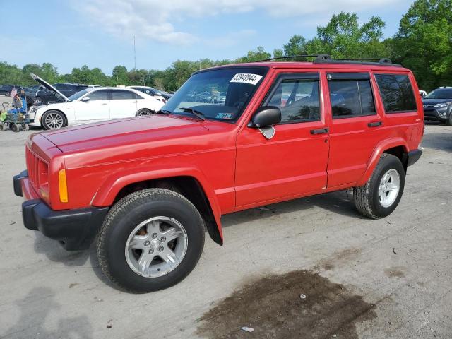
[[[13,184],[25,227],[97,239],[105,275],[149,292],[191,272],[205,228],[222,244],[226,213],[353,188],[359,213],[389,215],[423,133],[415,78],[387,59],[236,64],[150,117],[32,134]]]

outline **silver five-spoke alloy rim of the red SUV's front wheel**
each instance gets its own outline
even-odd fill
[[[145,278],[167,275],[184,259],[188,237],[184,226],[174,218],[159,216],[136,226],[126,242],[129,268]]]

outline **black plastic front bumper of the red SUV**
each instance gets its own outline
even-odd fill
[[[17,196],[32,198],[22,203],[23,225],[58,240],[68,251],[88,249],[109,210],[108,207],[52,210],[40,198],[25,193],[30,186],[26,171],[13,178],[13,186]]]

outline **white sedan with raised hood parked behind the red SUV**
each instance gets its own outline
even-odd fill
[[[71,97],[58,94],[65,102],[30,108],[30,126],[59,129],[74,124],[150,115],[164,105],[155,97],[130,88],[86,88]]]

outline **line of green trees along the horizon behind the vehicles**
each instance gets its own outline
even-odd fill
[[[452,0],[416,0],[400,20],[398,32],[383,40],[385,22],[373,16],[359,25],[356,13],[338,13],[329,23],[317,28],[316,36],[307,40],[293,35],[273,52],[257,47],[237,59],[198,61],[177,60],[165,70],[130,69],[115,66],[108,76],[101,69],[88,66],[60,74],[49,63],[28,64],[22,69],[0,62],[1,83],[32,85],[30,72],[49,83],[68,82],[89,85],[148,85],[160,90],[177,90],[191,73],[212,66],[258,61],[271,57],[299,54],[331,54],[334,59],[388,57],[411,69],[420,88],[432,90],[440,85],[452,85]],[[295,58],[296,61],[310,60]],[[283,60],[284,61],[284,60]]]

